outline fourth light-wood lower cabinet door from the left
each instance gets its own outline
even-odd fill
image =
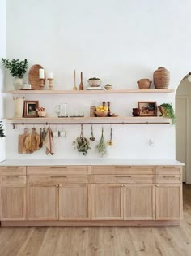
[[[123,219],[123,188],[121,184],[91,185],[91,219]]]

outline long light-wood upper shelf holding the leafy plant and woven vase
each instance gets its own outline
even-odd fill
[[[88,94],[88,93],[173,93],[174,89],[111,89],[111,90],[17,90],[9,91],[12,94]]]

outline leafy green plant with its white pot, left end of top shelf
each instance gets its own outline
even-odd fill
[[[21,89],[23,86],[23,76],[28,68],[28,60],[19,61],[19,59],[9,60],[2,58],[2,63],[4,67],[9,69],[11,76],[14,77],[13,85],[15,85],[15,89]]]

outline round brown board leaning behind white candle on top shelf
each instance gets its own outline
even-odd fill
[[[36,64],[33,65],[28,72],[28,82],[31,84],[32,89],[44,89],[44,87],[40,86],[41,80],[39,79],[39,70],[43,68],[42,66]],[[45,79],[43,81],[45,85]]]

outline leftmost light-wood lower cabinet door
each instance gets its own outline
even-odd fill
[[[26,186],[1,185],[1,220],[24,220],[26,217]]]

